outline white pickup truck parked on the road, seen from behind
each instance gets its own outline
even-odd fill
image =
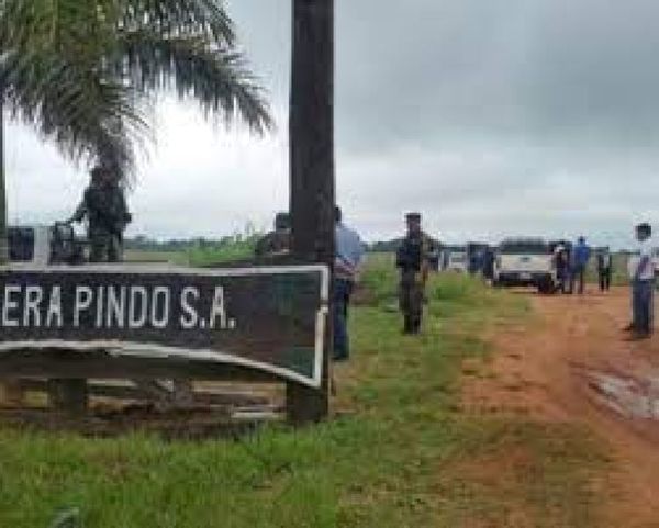
[[[543,238],[507,238],[496,249],[494,284],[535,287],[540,293],[554,293],[558,280],[549,244]]]

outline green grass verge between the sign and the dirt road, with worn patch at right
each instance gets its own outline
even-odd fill
[[[585,431],[460,409],[462,360],[490,353],[487,328],[528,317],[525,297],[434,278],[413,338],[389,257],[364,284],[340,417],[242,441],[0,430],[0,527],[45,528],[67,508],[90,528],[599,526],[591,476],[607,462]],[[511,452],[523,469],[491,475]]]

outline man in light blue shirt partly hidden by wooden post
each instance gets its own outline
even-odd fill
[[[335,214],[334,260],[334,360],[344,361],[350,355],[348,338],[348,305],[364,259],[364,244],[357,232],[343,223],[339,207]]]

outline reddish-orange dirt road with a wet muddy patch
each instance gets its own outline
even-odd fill
[[[528,293],[520,293],[528,294]],[[606,442],[615,471],[607,526],[659,527],[659,335],[628,342],[626,288],[584,296],[532,295],[534,316],[493,336],[489,375],[471,378],[465,403],[585,424]]]

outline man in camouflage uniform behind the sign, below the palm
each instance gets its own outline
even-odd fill
[[[90,262],[119,262],[123,232],[132,217],[115,175],[105,167],[91,170],[91,181],[70,222],[87,218]]]

